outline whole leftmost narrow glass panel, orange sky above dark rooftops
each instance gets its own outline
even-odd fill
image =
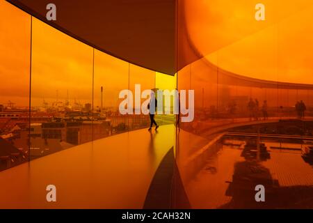
[[[31,16],[0,1],[0,171],[29,160]]]

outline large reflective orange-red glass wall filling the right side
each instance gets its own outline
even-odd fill
[[[195,118],[181,123],[177,163],[193,208],[312,204],[296,194],[313,196],[313,5],[262,3],[265,21],[255,1],[179,1],[178,58],[190,63],[177,86],[195,92]],[[271,201],[255,202],[256,185]]]

